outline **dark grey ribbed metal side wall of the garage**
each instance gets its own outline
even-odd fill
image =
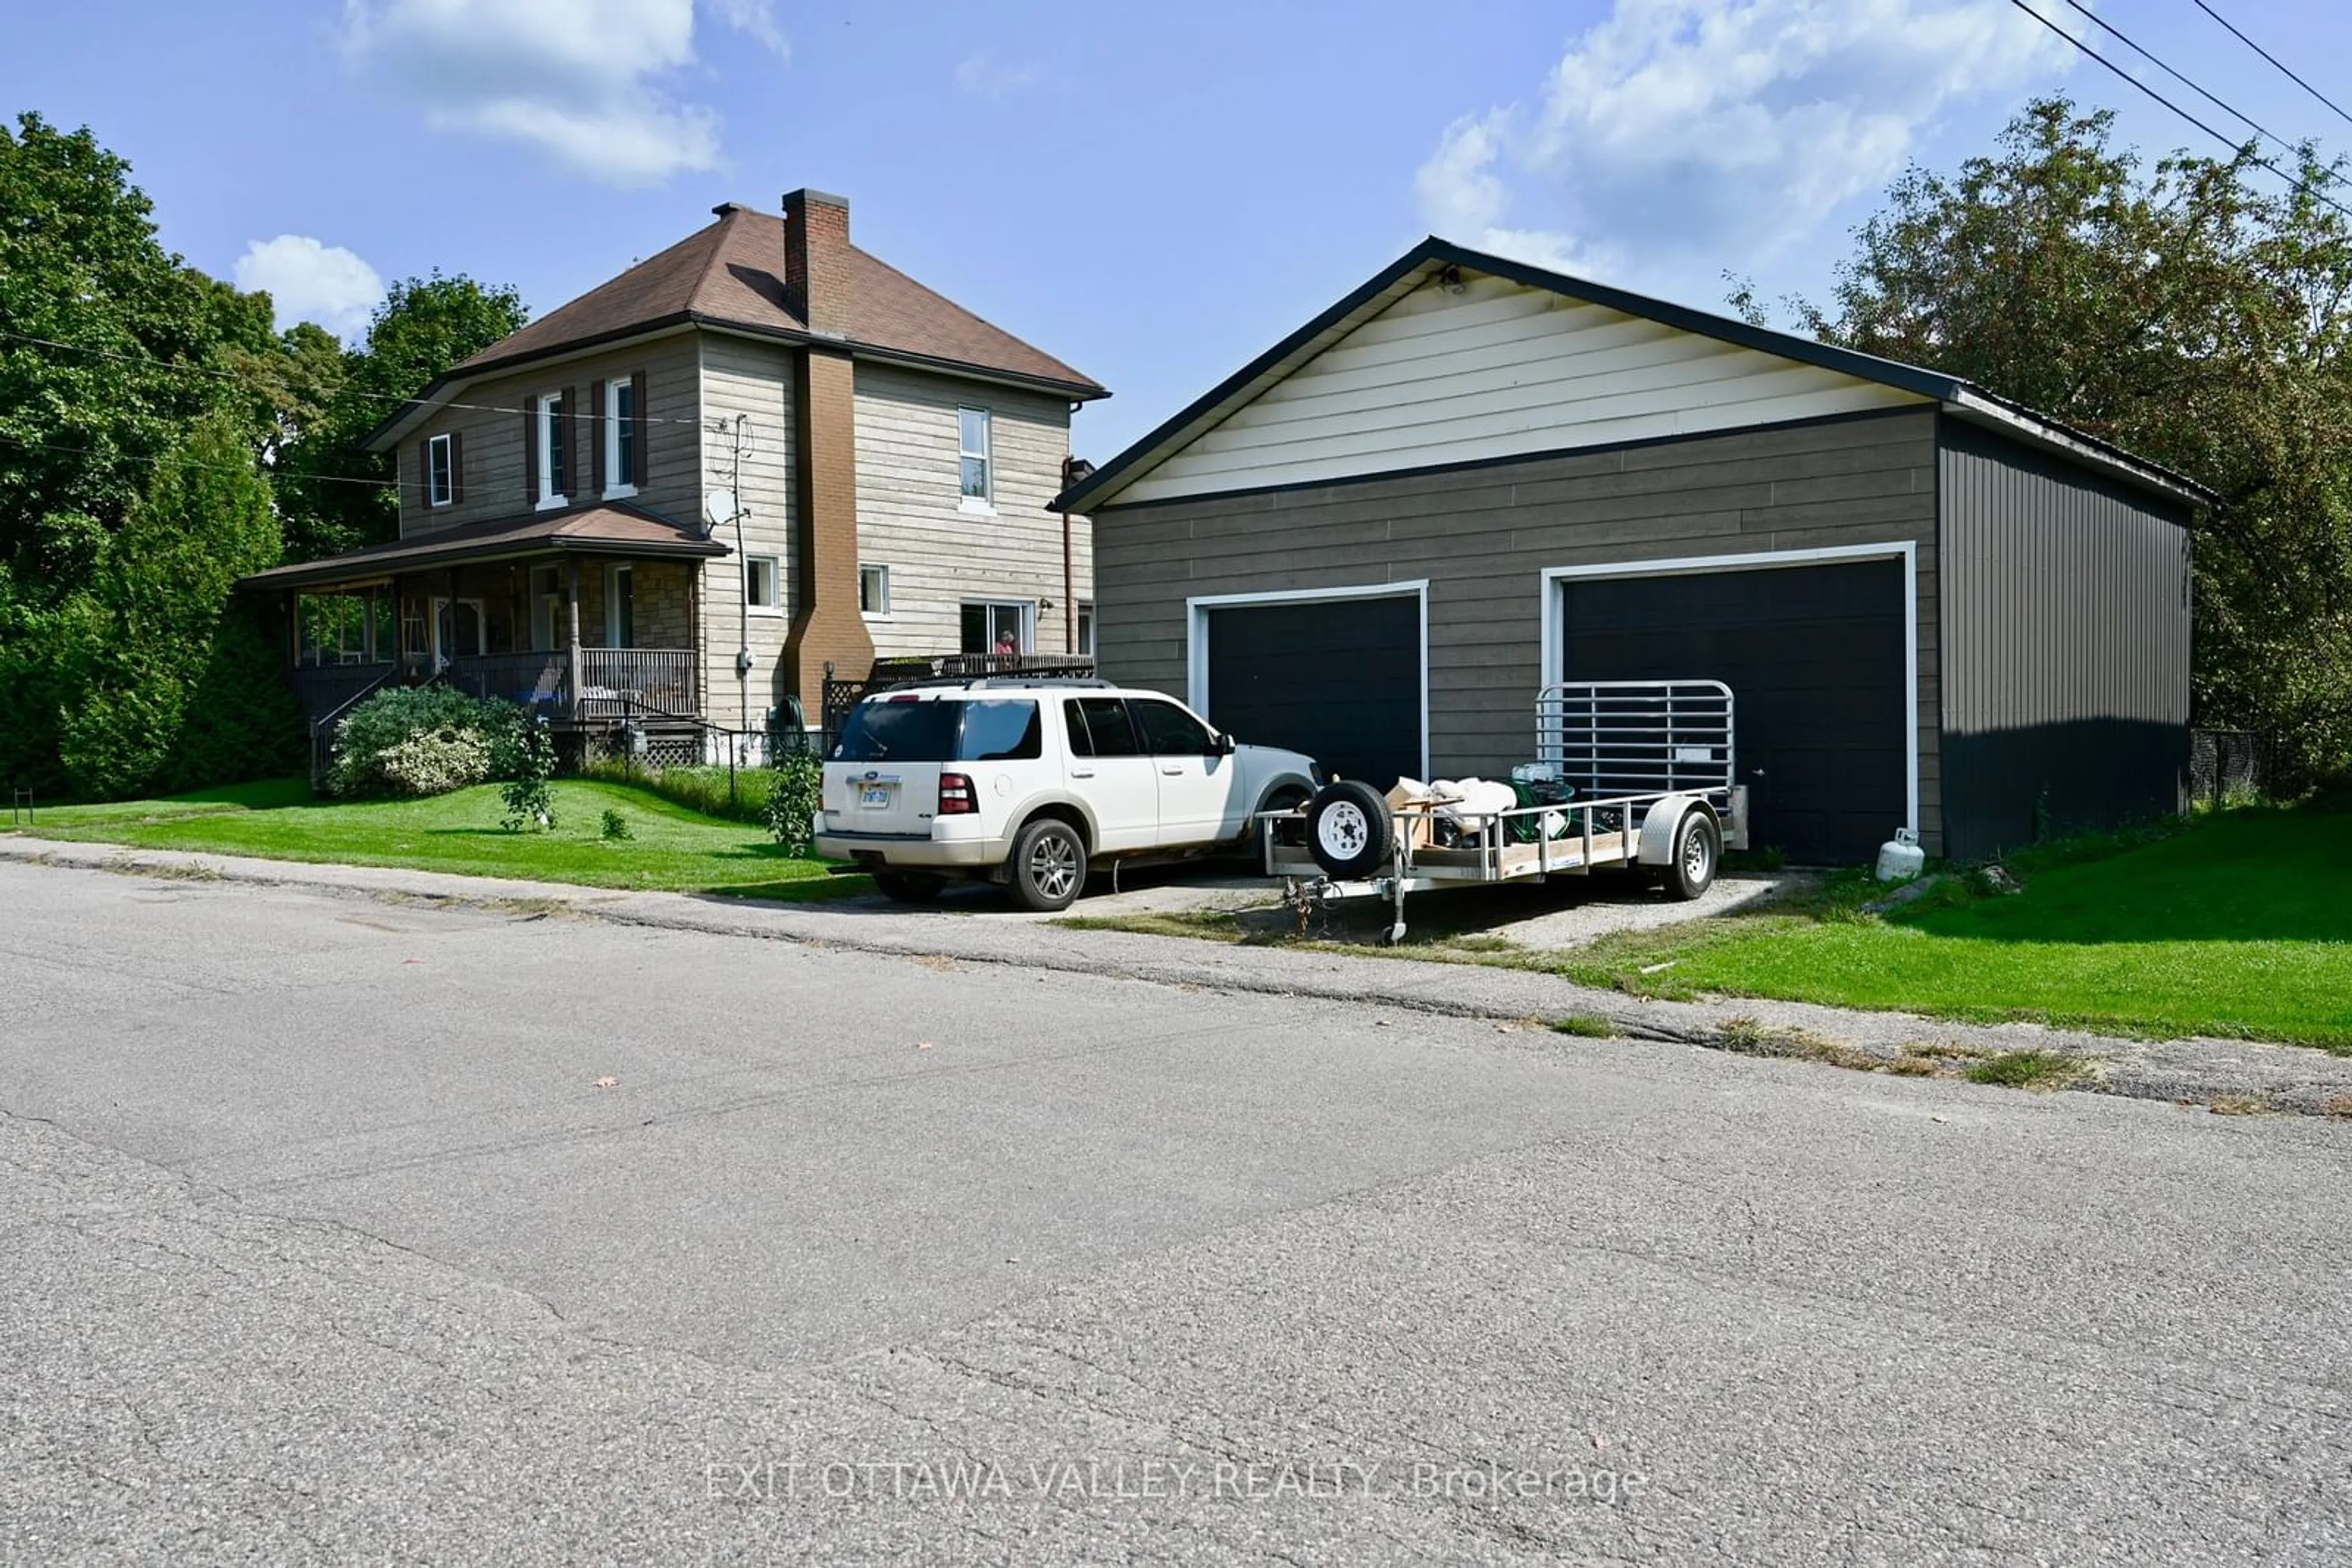
[[[2190,534],[2180,508],[1945,416],[1945,849],[2178,811]]]

